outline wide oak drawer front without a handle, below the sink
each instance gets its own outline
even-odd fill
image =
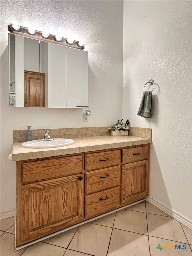
[[[23,183],[82,173],[83,155],[24,162],[22,171]]]

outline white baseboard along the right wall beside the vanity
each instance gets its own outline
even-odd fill
[[[173,219],[181,222],[186,227],[192,229],[192,221],[190,219],[187,219],[185,216],[181,215],[180,213],[172,210],[171,208],[167,207],[166,205],[160,203],[159,201],[155,200],[153,197],[148,196],[145,198],[147,202],[157,207],[159,210],[167,213],[169,216],[171,216]]]

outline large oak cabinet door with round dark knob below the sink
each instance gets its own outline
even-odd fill
[[[84,181],[72,175],[22,185],[17,202],[17,246],[79,222]]]

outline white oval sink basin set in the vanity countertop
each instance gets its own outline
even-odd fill
[[[30,140],[22,143],[22,147],[24,148],[56,148],[63,147],[67,145],[71,145],[75,143],[74,140],[71,139],[54,139],[54,140]]]

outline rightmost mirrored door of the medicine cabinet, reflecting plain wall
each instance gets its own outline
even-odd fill
[[[88,52],[66,47],[66,107],[88,107]]]

